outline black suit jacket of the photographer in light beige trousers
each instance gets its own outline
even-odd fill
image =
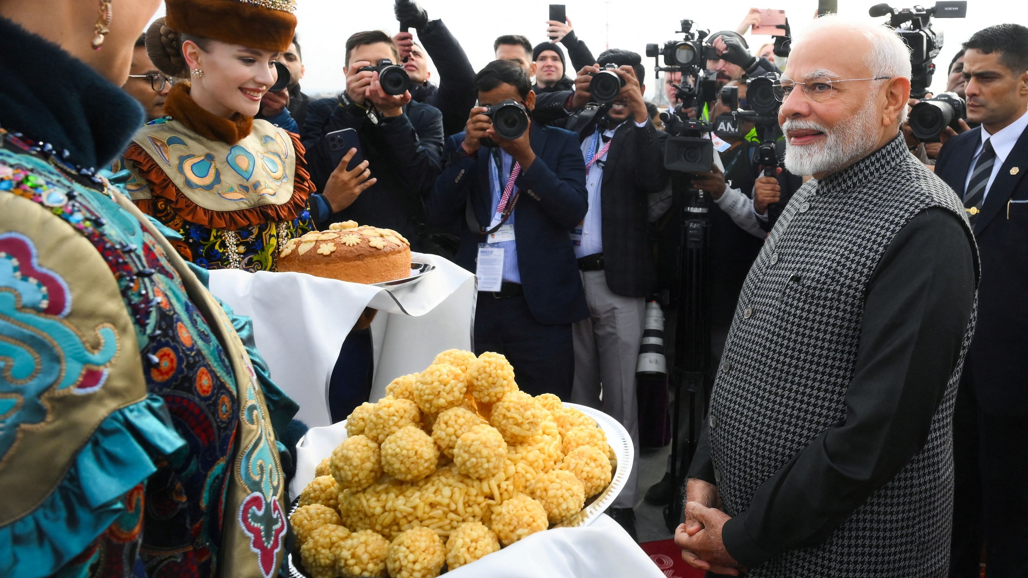
[[[579,129],[580,143],[592,139],[597,122],[603,120],[593,118]],[[667,182],[667,133],[649,120],[646,126],[635,126],[631,118],[624,122],[611,140],[600,184],[603,269],[612,293],[650,297],[657,288],[657,272],[648,236],[647,195],[663,190]]]

